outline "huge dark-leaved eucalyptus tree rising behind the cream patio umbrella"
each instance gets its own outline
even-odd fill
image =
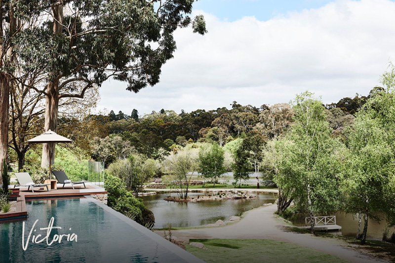
[[[50,1],[40,27],[18,38],[27,47],[18,50],[27,68],[47,74],[46,90],[40,91],[46,96],[44,130],[56,132],[59,100],[82,98],[86,89],[109,78],[126,82],[134,92],[157,84],[161,66],[176,49],[174,31],[191,25],[194,32],[206,33],[203,16],[189,16],[193,2]],[[79,92],[76,82],[84,84]],[[53,147],[44,144],[41,166],[54,158]]]

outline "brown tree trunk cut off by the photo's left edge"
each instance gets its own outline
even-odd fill
[[[5,72],[0,72],[0,175],[2,175],[3,160],[8,157],[8,108],[9,108],[9,78]],[[0,176],[0,184],[2,184]]]

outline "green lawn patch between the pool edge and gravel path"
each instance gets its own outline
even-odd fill
[[[207,263],[345,263],[340,258],[292,243],[268,239],[191,239],[204,244],[204,250],[186,245],[187,251]]]

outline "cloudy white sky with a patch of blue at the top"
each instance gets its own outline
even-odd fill
[[[198,0],[208,33],[178,29],[160,83],[138,93],[108,80],[97,110],[261,106],[309,90],[323,103],[380,86],[395,63],[394,0]]]

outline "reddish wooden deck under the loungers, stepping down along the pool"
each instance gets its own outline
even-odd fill
[[[107,194],[104,188],[97,187],[95,185],[86,184],[86,188],[83,186],[65,186],[62,188],[63,184],[58,184],[58,189],[47,191],[44,187],[35,187],[34,193],[32,190],[28,191],[27,187],[19,187],[19,196],[16,199],[16,212],[8,212],[0,214],[1,220],[9,219],[23,219],[27,218],[26,210],[26,199],[48,199],[48,198],[68,198],[68,197],[83,197],[84,195],[91,194]],[[18,187],[17,187],[18,188]]]

